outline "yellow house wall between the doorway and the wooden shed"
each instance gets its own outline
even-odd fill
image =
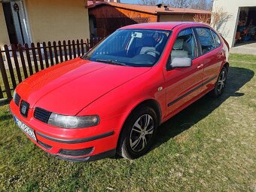
[[[26,0],[32,41],[90,38],[84,0]]]

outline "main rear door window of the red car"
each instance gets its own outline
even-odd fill
[[[196,28],[197,35],[202,47],[203,54],[215,49],[215,41],[212,38],[212,32],[207,28]]]

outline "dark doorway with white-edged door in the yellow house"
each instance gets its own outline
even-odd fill
[[[30,32],[23,1],[2,2],[11,44],[29,44]]]

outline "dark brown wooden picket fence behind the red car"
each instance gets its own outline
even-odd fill
[[[53,41],[24,46],[5,44],[3,49],[0,47],[0,99],[11,99],[12,90],[17,84],[35,72],[82,56],[99,41],[99,38],[92,38],[86,41]]]

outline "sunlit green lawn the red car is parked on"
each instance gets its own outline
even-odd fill
[[[224,95],[204,96],[160,126],[137,160],[49,156],[0,107],[2,191],[255,191],[256,56],[232,54]]]

